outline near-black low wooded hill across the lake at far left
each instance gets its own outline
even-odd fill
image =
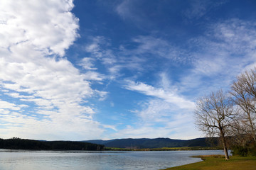
[[[37,150],[102,150],[104,145],[73,141],[23,140],[17,137],[0,139],[0,149],[37,149]]]

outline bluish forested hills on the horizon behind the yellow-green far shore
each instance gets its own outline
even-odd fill
[[[86,140],[83,142],[91,142],[95,144],[105,145],[105,147],[119,148],[160,148],[160,147],[210,147],[211,144],[206,138],[197,138],[193,140],[172,140],[169,138],[156,139],[117,139],[117,140]],[[217,139],[213,142],[216,144]]]

